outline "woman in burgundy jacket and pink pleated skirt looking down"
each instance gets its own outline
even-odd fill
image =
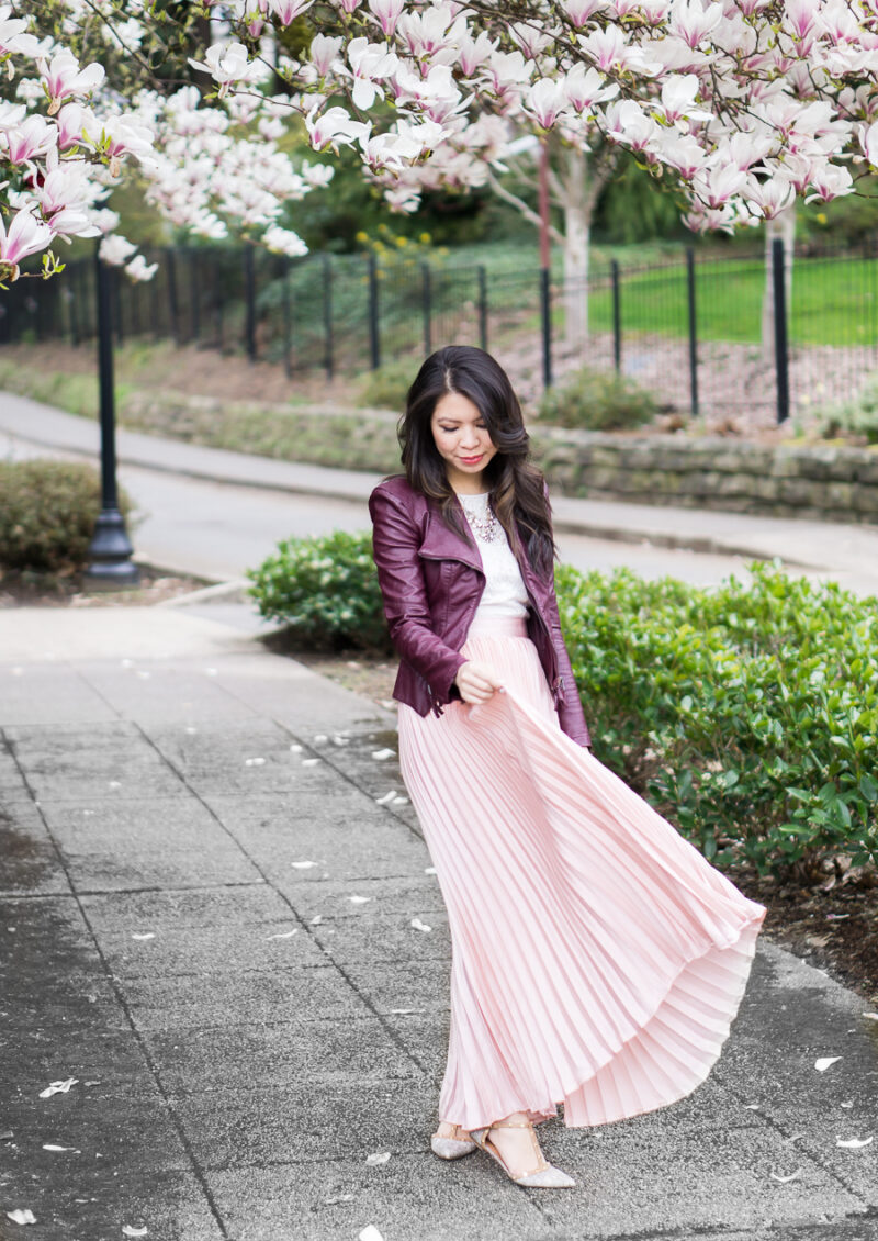
[[[765,910],[590,753],[546,485],[502,369],[469,346],[433,354],[399,438],[406,473],[370,511],[399,761],[453,944],[432,1147],[567,1188],[533,1124],[558,1103],[590,1126],[691,1093]]]

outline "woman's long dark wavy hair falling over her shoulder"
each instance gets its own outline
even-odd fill
[[[437,402],[448,392],[459,392],[476,406],[497,449],[484,477],[490,488],[487,503],[506,531],[510,546],[517,547],[517,525],[525,536],[530,563],[542,577],[549,577],[556,546],[543,475],[528,460],[530,436],[508,376],[484,349],[446,345],[430,354],[418,371],[397,432],[409,486],[434,500],[445,524],[472,542],[430,426]]]

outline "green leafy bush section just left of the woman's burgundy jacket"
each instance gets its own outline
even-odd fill
[[[286,539],[247,577],[262,616],[285,622],[296,645],[391,649],[370,535]]]

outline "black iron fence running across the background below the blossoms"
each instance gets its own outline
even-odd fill
[[[849,400],[878,366],[878,246],[773,258],[763,251],[662,263],[594,262],[564,280],[394,257],[252,247],[166,248],[153,280],[113,271],[117,341],[171,339],[283,365],[291,381],[415,362],[441,344],[477,344],[525,395],[577,366],[616,370],[671,410],[752,414]],[[0,293],[0,344],[97,335],[94,264]]]

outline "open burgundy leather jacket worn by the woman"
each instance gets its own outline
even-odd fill
[[[401,656],[393,697],[419,715],[430,710],[441,715],[445,704],[460,700],[454,685],[458,669],[466,663],[460,648],[485,589],[479,550],[449,530],[439,508],[413,491],[403,475],[379,483],[368,509],[384,616]],[[590,746],[561,634],[554,583],[541,578],[523,558],[527,633],[539,654],[561,727],[580,746]]]

